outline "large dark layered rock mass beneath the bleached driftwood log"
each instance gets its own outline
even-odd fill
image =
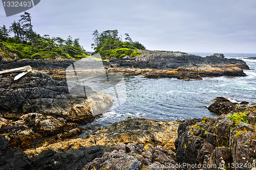
[[[86,122],[92,117],[87,99],[70,95],[66,81],[55,81],[42,72],[32,72],[17,81],[13,80],[14,76],[0,76],[0,113],[3,117],[20,117],[30,112],[61,116],[72,121]],[[94,109],[109,109],[113,99],[105,93],[94,93],[97,95],[94,102],[101,105]]]

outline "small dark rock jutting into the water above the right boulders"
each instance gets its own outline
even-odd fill
[[[208,109],[218,114],[228,114],[230,111],[234,110],[236,104],[238,103],[232,103],[226,98],[218,97],[214,99],[214,103],[212,103]]]

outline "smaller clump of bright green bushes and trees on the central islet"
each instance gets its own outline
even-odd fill
[[[133,42],[127,33],[125,33],[125,42],[123,42],[122,38],[118,37],[117,30],[107,30],[102,33],[95,30],[92,35],[94,40],[92,48],[95,54],[99,53],[102,57],[135,57],[142,54],[138,50],[145,50],[144,45],[138,41]]]

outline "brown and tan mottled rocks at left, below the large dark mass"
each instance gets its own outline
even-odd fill
[[[39,113],[28,113],[20,117],[16,122],[5,124],[1,129],[1,134],[8,134],[9,143],[15,148],[29,148],[35,139],[58,134],[69,128],[77,126],[74,123],[67,123],[64,118],[54,118]],[[82,129],[82,128],[81,128]],[[79,134],[81,130],[72,129],[59,134],[59,138],[64,139]]]

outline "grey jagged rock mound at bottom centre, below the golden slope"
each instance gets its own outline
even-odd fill
[[[113,152],[104,153],[101,158],[97,158],[84,166],[84,170],[96,169],[156,169],[157,163],[165,165],[161,169],[179,169],[170,168],[176,165],[175,158],[168,154],[162,146],[153,147],[148,144],[137,143],[117,143],[113,147]],[[166,167],[168,164],[169,167]]]

